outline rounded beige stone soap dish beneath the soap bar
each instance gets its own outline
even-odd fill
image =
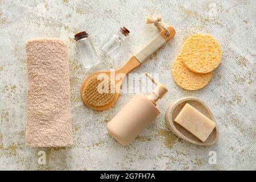
[[[174,122],[174,119],[176,118],[177,114],[180,113],[183,106],[188,103],[195,107],[197,110],[199,110],[201,113],[203,113],[206,117],[208,117],[210,120],[212,120],[214,123],[215,119],[213,117],[212,112],[210,111],[209,107],[204,104],[203,101],[201,101],[199,98],[196,97],[185,97],[181,98],[180,100],[176,101],[174,104],[172,104],[168,109],[166,110],[166,123],[168,128],[174,133],[177,137],[180,137],[187,142],[197,144],[200,146],[210,146],[218,140],[218,127],[216,124],[216,127],[213,129],[212,133],[209,135],[207,140],[205,142],[201,142],[200,139],[196,138],[193,134],[191,134],[188,130],[184,129],[181,125]]]

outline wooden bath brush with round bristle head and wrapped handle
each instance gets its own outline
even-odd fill
[[[147,60],[154,52],[158,51],[174,35],[175,30],[172,27],[160,31],[154,39],[151,40],[141,51],[131,58],[115,71],[100,71],[88,76],[81,86],[82,101],[86,106],[94,110],[105,110],[113,106],[118,99],[123,78]],[[99,89],[102,91],[99,92]]]

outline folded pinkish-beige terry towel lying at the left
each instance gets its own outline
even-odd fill
[[[59,39],[26,43],[28,146],[71,146],[72,123],[68,47]]]

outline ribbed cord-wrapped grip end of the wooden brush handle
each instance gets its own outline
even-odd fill
[[[170,35],[166,36],[166,32],[163,30],[159,35],[155,36],[146,46],[144,46],[141,51],[139,51],[135,57],[140,62],[143,63],[150,57],[153,53],[158,51],[165,43],[167,43],[175,35],[175,30],[172,27],[167,27],[170,31]]]

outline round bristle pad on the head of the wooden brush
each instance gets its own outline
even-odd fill
[[[104,92],[98,92],[98,86]],[[105,106],[114,99],[115,93],[112,92],[112,88],[114,88],[113,83],[108,77],[92,77],[84,87],[83,98],[91,105]]]

